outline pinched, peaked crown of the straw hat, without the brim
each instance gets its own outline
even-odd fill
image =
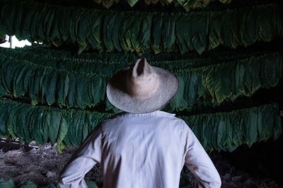
[[[138,59],[127,75],[127,93],[134,98],[151,97],[158,88],[158,75],[146,59]]]

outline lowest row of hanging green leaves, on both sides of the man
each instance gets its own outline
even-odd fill
[[[282,132],[275,103],[230,112],[181,117],[195,132],[207,151],[233,151],[243,143],[277,139]],[[58,146],[80,146],[103,119],[113,114],[87,110],[62,110],[57,107],[26,105],[0,100],[0,134],[21,141]]]

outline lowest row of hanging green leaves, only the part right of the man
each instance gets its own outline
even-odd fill
[[[276,104],[181,118],[192,125],[207,151],[232,152],[243,144],[250,147],[258,141],[277,139],[282,133]]]

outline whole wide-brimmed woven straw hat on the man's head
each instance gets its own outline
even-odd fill
[[[134,66],[112,76],[106,87],[112,105],[131,113],[161,110],[178,90],[178,79],[169,71],[138,59]]]

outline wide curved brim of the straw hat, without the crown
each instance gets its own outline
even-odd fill
[[[125,112],[149,113],[161,110],[173,98],[178,90],[178,78],[165,69],[152,66],[158,74],[158,88],[149,98],[133,98],[126,91],[127,70],[118,72],[110,78],[106,87],[109,102]]]

